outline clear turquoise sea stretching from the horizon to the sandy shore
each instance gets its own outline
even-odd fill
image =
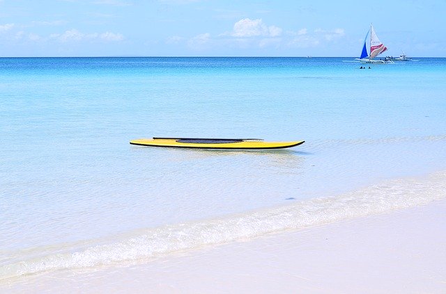
[[[0,283],[440,197],[446,58],[349,59],[0,58]],[[129,144],[156,136],[305,143]]]

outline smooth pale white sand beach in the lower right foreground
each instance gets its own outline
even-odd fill
[[[446,293],[446,200],[0,293]]]

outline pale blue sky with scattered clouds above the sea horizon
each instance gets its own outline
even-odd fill
[[[446,0],[0,0],[0,56],[446,57]]]

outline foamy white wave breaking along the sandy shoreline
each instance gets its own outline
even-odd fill
[[[314,198],[224,218],[143,229],[111,243],[91,245],[90,241],[89,247],[80,250],[73,243],[70,250],[74,252],[62,250],[67,245],[52,247],[51,252],[46,248],[45,256],[24,257],[20,261],[15,258],[16,262],[1,266],[0,281],[54,270],[148,261],[173,252],[386,213],[445,197],[446,171],[424,178],[394,179],[336,197]]]

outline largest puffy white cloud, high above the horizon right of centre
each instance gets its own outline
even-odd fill
[[[277,26],[266,26],[262,19],[240,19],[229,33],[233,37],[249,38],[258,36],[277,37],[282,34],[282,28]]]

